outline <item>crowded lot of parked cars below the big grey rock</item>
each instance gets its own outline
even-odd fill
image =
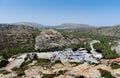
[[[58,54],[53,54],[51,61],[60,60],[62,62],[89,62],[89,63],[99,63],[99,61],[93,57],[92,54],[88,53],[85,48],[80,48],[77,51],[72,51],[71,48],[65,51],[60,51]]]

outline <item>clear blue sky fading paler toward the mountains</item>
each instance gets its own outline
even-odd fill
[[[120,24],[120,0],[0,0],[0,23]]]

